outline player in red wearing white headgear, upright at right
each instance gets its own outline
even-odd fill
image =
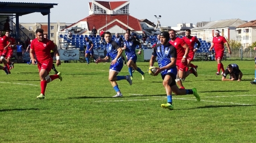
[[[217,64],[218,71],[216,72],[216,75],[220,75],[220,69],[222,70],[221,75],[223,75],[225,70],[224,70],[223,64],[221,63],[221,60],[224,56],[224,44],[226,44],[226,47],[228,47],[229,54],[231,54],[231,50],[225,37],[220,36],[220,31],[217,30],[214,33],[216,37],[213,37],[212,45],[210,46],[209,50],[211,51],[214,47],[215,54],[216,54],[215,59],[217,60],[217,63],[218,63]]]

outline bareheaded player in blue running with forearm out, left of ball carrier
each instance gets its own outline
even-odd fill
[[[121,55],[123,53],[122,48],[117,44],[117,42],[112,41],[112,36],[110,32],[106,32],[104,36],[107,45],[106,45],[106,57],[104,59],[97,59],[96,63],[100,62],[107,62],[109,58],[112,58],[112,62],[109,68],[109,81],[111,85],[113,86],[115,92],[117,94],[113,97],[122,97],[122,93],[120,92],[117,82],[118,80],[127,80],[129,84],[132,84],[130,75],[127,76],[117,76],[118,73],[123,68],[123,60],[121,58]]]

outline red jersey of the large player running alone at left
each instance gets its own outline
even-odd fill
[[[35,51],[36,59],[39,63],[43,63],[44,60],[52,60],[51,50],[54,49],[55,44],[46,38],[43,41],[34,39],[31,42],[30,49]]]

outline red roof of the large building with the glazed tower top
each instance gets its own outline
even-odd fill
[[[89,15],[88,17],[86,17],[80,21],[87,21],[88,31],[92,31],[93,26],[95,26],[95,28],[97,30],[101,30],[102,27],[104,27],[104,30],[105,30],[106,18],[107,18],[107,23],[113,22],[113,20],[119,20],[122,23],[127,25],[127,15],[93,14],[93,15]],[[139,19],[134,18],[133,16],[130,16],[130,15],[129,15],[128,19],[129,19],[128,26],[131,27],[131,29],[134,29],[135,31],[142,31],[141,24],[139,23]],[[78,21],[77,23],[79,23],[80,21]],[[73,24],[69,25],[69,27],[72,27],[73,25],[75,25],[77,23],[73,23]],[[123,27],[123,24],[119,23],[118,21],[114,21],[112,24],[108,25],[108,29],[110,29],[111,27],[114,27],[114,25]],[[69,28],[69,27],[67,27],[67,28]],[[98,28],[101,28],[101,29],[98,29]]]

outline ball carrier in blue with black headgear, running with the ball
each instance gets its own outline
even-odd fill
[[[177,75],[176,58],[177,51],[168,41],[170,35],[168,32],[162,32],[160,34],[160,44],[154,47],[152,57],[150,59],[150,66],[154,66],[156,57],[158,57],[158,70],[155,72],[155,76],[161,73],[163,79],[163,86],[166,89],[167,103],[162,104],[164,109],[173,110],[172,106],[172,92],[176,95],[194,94],[197,101],[200,101],[200,96],[197,94],[196,88],[193,89],[179,89],[176,85],[175,79]]]

